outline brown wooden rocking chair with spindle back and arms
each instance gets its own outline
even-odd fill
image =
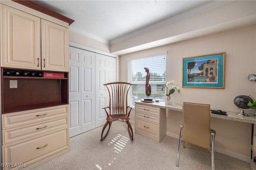
[[[128,125],[128,132],[130,135],[130,138],[133,141],[133,131],[132,131],[132,126],[129,122],[130,120],[130,112],[132,110],[132,107],[128,106],[127,104],[127,96],[128,96],[128,91],[132,84],[127,83],[127,82],[111,82],[107,84],[103,84],[106,86],[108,89],[108,94],[109,94],[109,106],[104,107],[102,109],[105,109],[107,118],[106,118],[106,123],[102,129],[101,133],[101,139],[106,138],[108,135],[108,132],[110,130],[111,124],[113,121],[119,120],[122,122],[126,122]],[[108,127],[108,131],[103,137],[104,130],[106,127]]]

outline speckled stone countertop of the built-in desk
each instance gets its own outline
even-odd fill
[[[153,106],[153,107],[158,107],[158,108],[164,108],[164,109],[170,109],[170,110],[175,110],[175,111],[183,111],[182,109],[182,104],[165,104],[164,102],[142,102],[140,100],[136,101],[135,104],[141,104],[145,106]],[[217,110],[217,109],[213,109]],[[226,110],[223,110],[226,111]],[[227,120],[232,120],[232,121],[240,121],[244,123],[256,123],[256,117],[252,113],[246,113],[250,116],[239,116],[237,112],[234,111],[226,111],[226,115],[217,115],[217,114],[212,114],[211,117],[217,117],[220,119],[227,119]]]

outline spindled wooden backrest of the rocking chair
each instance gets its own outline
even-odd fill
[[[132,84],[127,82],[111,82],[103,84],[108,89],[110,115],[128,114],[127,113],[127,96]]]

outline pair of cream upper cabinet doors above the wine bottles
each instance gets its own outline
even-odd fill
[[[68,28],[1,4],[1,66],[68,72]]]

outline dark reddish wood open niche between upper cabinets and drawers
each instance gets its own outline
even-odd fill
[[[1,68],[2,114],[68,104],[68,72],[64,72],[64,78],[52,78],[4,76],[5,70],[22,71]],[[10,88],[13,79],[17,80],[17,88]]]

